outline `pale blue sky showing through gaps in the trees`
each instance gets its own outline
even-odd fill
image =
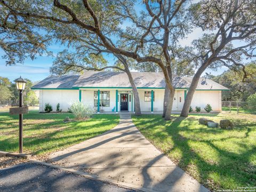
[[[194,0],[196,1],[196,0]],[[138,6],[139,10],[141,10],[141,6]],[[130,23],[123,23],[122,27],[125,28],[129,26]],[[203,34],[202,29],[195,28],[192,33],[190,33],[187,38],[180,39],[180,44],[182,46],[190,45],[191,42],[200,37]],[[11,81],[18,77],[28,78],[33,82],[41,81],[47,76],[50,75],[50,67],[54,61],[55,55],[58,52],[65,49],[64,45],[59,43],[53,43],[51,46],[48,47],[48,51],[52,51],[53,57],[49,57],[47,55],[43,55],[42,57],[37,57],[35,60],[26,59],[23,64],[17,64],[15,66],[6,66],[5,60],[2,59],[4,55],[3,50],[0,48],[0,76],[7,77]],[[106,59],[108,60],[109,65],[113,65],[115,58],[114,56],[106,55]],[[223,71],[227,70],[226,67],[220,68],[217,71],[213,71],[210,69],[206,69],[206,73],[211,73],[212,75],[219,75],[222,74]],[[205,73],[203,73],[205,75]]]

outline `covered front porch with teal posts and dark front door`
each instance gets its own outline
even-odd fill
[[[100,88],[100,87],[99,87]],[[164,89],[138,89],[143,114],[163,111]],[[134,113],[134,95],[128,88],[79,89],[79,101],[94,107],[95,113]]]

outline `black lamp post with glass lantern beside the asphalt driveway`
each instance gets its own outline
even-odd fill
[[[23,78],[18,78],[15,80],[15,83],[17,85],[17,89],[19,90],[19,107],[22,107],[23,105],[23,95],[22,92],[25,90],[25,85],[27,81]],[[19,153],[23,153],[23,138],[22,138],[22,129],[23,129],[23,114],[19,114]]]

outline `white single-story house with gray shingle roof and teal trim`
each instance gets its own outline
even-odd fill
[[[132,73],[140,98],[141,111],[163,111],[165,79],[162,73]],[[191,77],[175,77],[173,111],[181,111],[189,91]],[[85,71],[83,75],[47,77],[31,89],[39,90],[39,111],[50,103],[53,111],[60,103],[62,111],[68,111],[74,101],[95,108],[95,111],[134,111],[134,97],[127,75],[113,71]],[[213,111],[221,111],[221,91],[226,87],[201,78],[197,85],[191,106],[203,109],[208,103]]]

